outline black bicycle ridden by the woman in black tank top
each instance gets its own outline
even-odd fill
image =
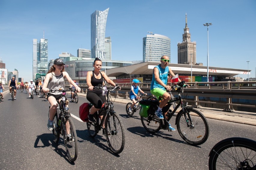
[[[116,86],[113,89],[109,88],[107,90],[104,90],[104,88],[101,87],[101,84],[93,88],[93,89],[104,90],[106,92],[107,100],[105,102],[105,108],[102,108],[93,114],[94,121],[86,122],[89,135],[91,137],[95,137],[97,133],[99,133],[99,131],[103,129],[102,124],[105,120],[105,128],[103,129],[103,133],[106,136],[108,146],[110,147],[111,151],[114,154],[120,154],[123,151],[124,144],[125,144],[123,123],[119,115],[117,115],[116,112],[114,111],[113,109],[114,105],[109,99],[110,98],[109,92],[110,91],[113,92],[117,88],[119,89],[120,87]],[[91,108],[93,104],[89,103],[89,106]],[[102,121],[99,122],[99,116],[102,112],[104,113],[103,118],[102,118]]]

